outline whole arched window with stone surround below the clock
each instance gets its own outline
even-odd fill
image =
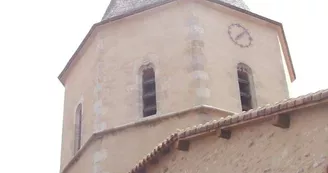
[[[252,96],[252,70],[246,64],[239,63],[237,66],[237,72],[242,111],[248,111],[255,106],[254,98]]]

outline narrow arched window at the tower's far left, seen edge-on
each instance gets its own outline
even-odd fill
[[[82,104],[80,103],[75,111],[75,139],[74,139],[74,153],[81,148],[82,138]]]

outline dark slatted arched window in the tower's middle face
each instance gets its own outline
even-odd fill
[[[152,67],[147,67],[142,71],[142,101],[144,117],[156,114],[156,81]]]

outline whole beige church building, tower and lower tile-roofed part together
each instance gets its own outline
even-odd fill
[[[111,0],[58,78],[61,173],[327,173],[328,90],[242,0]]]

